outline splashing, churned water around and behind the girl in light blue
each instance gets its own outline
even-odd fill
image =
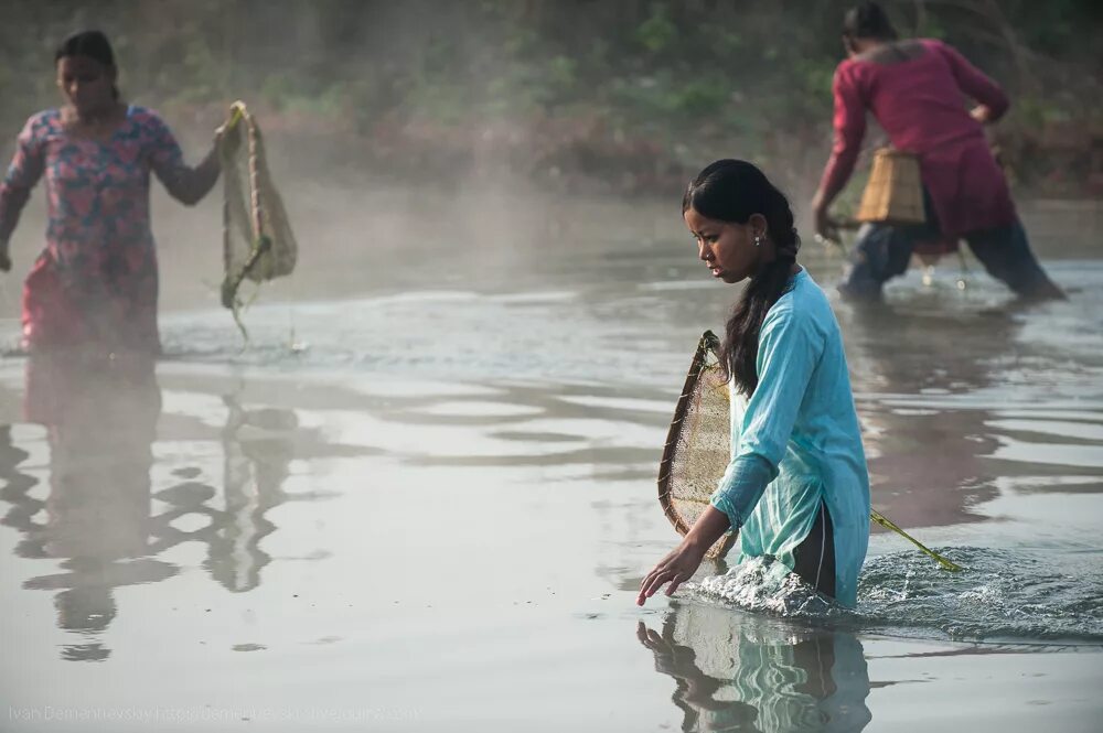
[[[965,572],[945,572],[914,552],[867,560],[855,610],[817,594],[772,558],[685,589],[692,600],[855,632],[1103,646],[1103,572],[1090,556],[1057,562],[1051,553],[1025,550],[940,551]]]

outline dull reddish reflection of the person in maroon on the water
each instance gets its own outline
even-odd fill
[[[1004,311],[840,309],[869,465],[874,508],[904,526],[975,521],[996,496],[985,456],[997,446],[983,410],[943,410],[932,398],[989,387],[989,360],[1018,324]],[[909,396],[908,405],[900,405]]]

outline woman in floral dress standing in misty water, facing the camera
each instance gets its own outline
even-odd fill
[[[203,162],[185,165],[161,118],[119,99],[115,56],[98,31],[67,39],[55,62],[67,104],[28,120],[0,184],[0,268],[8,270],[9,237],[45,176],[46,247],[23,288],[23,344],[157,354],[150,172],[178,201],[197,203],[218,179],[221,134]]]

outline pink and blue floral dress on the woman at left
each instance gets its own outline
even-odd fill
[[[56,109],[28,120],[0,184],[7,239],[31,188],[46,181],[46,247],[23,292],[28,347],[159,351],[150,171],[164,183],[183,169],[172,132],[142,107],[130,106],[106,141],[71,134]]]

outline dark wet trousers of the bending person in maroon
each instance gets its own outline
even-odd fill
[[[908,269],[918,241],[939,238],[935,224],[889,226],[866,224],[858,230],[858,240],[850,252],[839,293],[854,300],[876,300],[885,282]],[[1022,224],[995,229],[971,231],[965,241],[988,274],[1002,281],[1018,295],[1031,300],[1063,298],[1061,289],[1046,276],[1027,241]]]

